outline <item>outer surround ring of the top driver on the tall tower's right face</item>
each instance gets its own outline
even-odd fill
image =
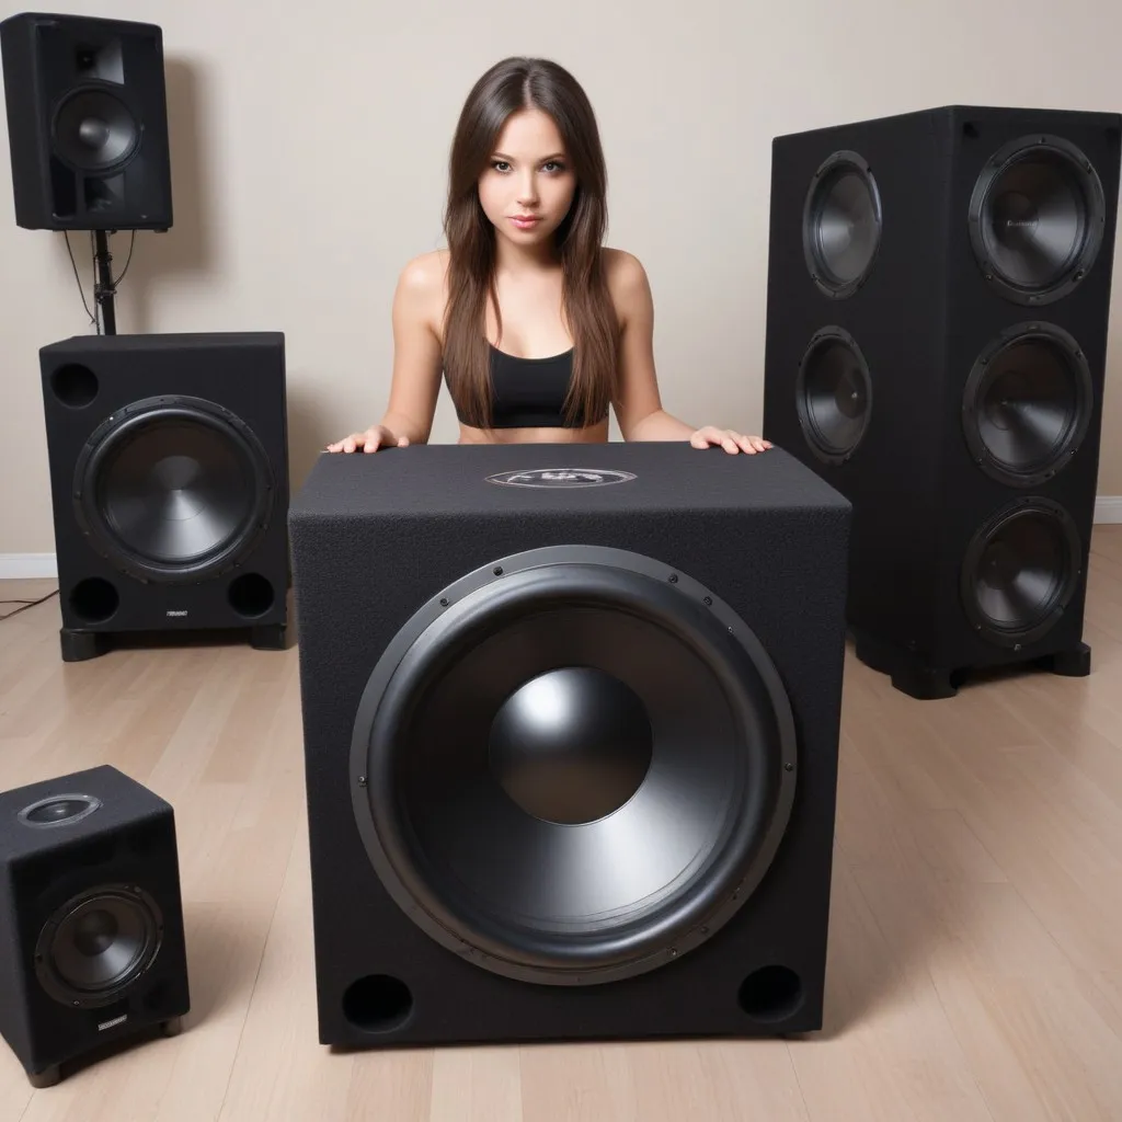
[[[990,259],[985,234],[982,230],[982,215],[985,211],[991,188],[1023,154],[1031,153],[1033,149],[1050,151],[1052,154],[1058,153],[1074,165],[1074,168],[1079,173],[1079,182],[1084,188],[1084,199],[1087,204],[1086,232],[1083,246],[1075,259],[1069,264],[1069,267],[1060,275],[1060,278],[1045,288],[1026,288],[1001,276]],[[1091,272],[1095,260],[1098,258],[1106,226],[1106,196],[1094,164],[1087,159],[1078,146],[1060,136],[1033,132],[1019,137],[1015,140],[1010,140],[986,160],[985,167],[978,173],[974,191],[971,194],[967,224],[969,227],[974,259],[982,270],[983,277],[985,277],[990,285],[1006,300],[1017,304],[1051,304],[1067,296],[1076,288]]]

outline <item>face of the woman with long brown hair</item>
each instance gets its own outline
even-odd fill
[[[512,114],[479,177],[479,202],[498,233],[519,248],[552,243],[576,190],[553,118],[540,109]],[[518,221],[524,215],[531,220]]]

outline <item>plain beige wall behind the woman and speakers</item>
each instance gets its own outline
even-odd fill
[[[0,16],[21,7],[0,0]],[[71,0],[63,10],[164,28],[176,223],[138,236],[118,328],[285,331],[297,484],[316,449],[383,408],[398,270],[441,243],[456,117],[504,55],[554,57],[592,99],[609,241],[651,276],[668,408],[753,431],[773,135],[948,102],[1122,109],[1116,0]],[[0,554],[49,553],[36,351],[90,327],[62,236],[15,226],[6,139],[2,151]],[[127,237],[114,240],[120,265]],[[1122,495],[1120,301],[1116,285],[1101,495]],[[433,439],[453,439],[453,422],[444,395]]]

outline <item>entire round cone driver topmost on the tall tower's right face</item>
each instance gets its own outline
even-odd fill
[[[1060,137],[1022,137],[978,176],[971,199],[974,252],[986,278],[1018,303],[1066,295],[1094,264],[1106,205],[1091,160]]]

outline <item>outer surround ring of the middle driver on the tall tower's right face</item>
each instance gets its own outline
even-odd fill
[[[1011,344],[1022,340],[1042,339],[1055,344],[1067,359],[1075,379],[1076,411],[1075,423],[1065,439],[1059,454],[1049,460],[1037,471],[1012,471],[1002,467],[986,447],[976,423],[978,416],[978,389],[990,373],[991,364]],[[1051,479],[1079,451],[1087,429],[1091,425],[1091,414],[1094,405],[1094,387],[1091,380],[1091,366],[1083,348],[1075,338],[1055,323],[1029,321],[1006,328],[995,339],[991,340],[974,362],[966,385],[963,387],[963,435],[974,462],[997,482],[1012,487],[1036,487]]]

